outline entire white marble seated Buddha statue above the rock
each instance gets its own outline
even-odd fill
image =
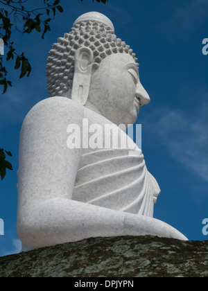
[[[48,62],[51,98],[31,109],[20,134],[17,233],[23,250],[92,237],[187,240],[153,218],[159,186],[120,129],[135,123],[150,98],[135,54],[114,35],[110,19],[98,12],[79,17],[53,44]],[[107,126],[113,129],[108,135]]]

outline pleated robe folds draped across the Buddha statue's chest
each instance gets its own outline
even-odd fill
[[[144,187],[146,165],[141,152],[126,149],[96,150],[83,155],[73,200],[110,209],[125,209],[137,200]]]

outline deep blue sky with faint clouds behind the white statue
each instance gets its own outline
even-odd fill
[[[33,1],[31,6],[33,5]],[[40,1],[38,1],[40,2]],[[150,173],[162,193],[155,218],[182,231],[189,240],[207,240],[202,220],[208,218],[208,0],[61,0],[64,8],[51,23],[51,32],[21,35],[14,31],[17,51],[25,52],[33,71],[19,80],[8,64],[13,87],[0,96],[0,147],[10,150],[14,171],[0,182],[0,256],[19,252],[16,231],[19,131],[28,111],[48,97],[46,58],[58,37],[71,30],[85,12],[109,17],[118,37],[139,59],[141,82],[151,103],[141,109],[142,149]],[[36,3],[35,3],[36,5]]]

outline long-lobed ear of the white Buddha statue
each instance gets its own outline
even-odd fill
[[[89,96],[92,76],[93,51],[86,46],[78,49],[74,58],[74,75],[71,99],[85,105]]]

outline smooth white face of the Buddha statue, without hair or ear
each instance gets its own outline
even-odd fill
[[[112,123],[135,123],[140,107],[149,102],[150,98],[139,80],[137,64],[131,55],[109,55],[92,72],[85,106],[105,116]]]

